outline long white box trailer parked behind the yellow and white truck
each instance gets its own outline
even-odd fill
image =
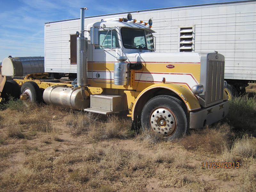
[[[119,18],[128,12],[85,18],[89,23]],[[132,18],[153,20],[158,52],[214,52],[225,56],[225,80],[233,94],[256,83],[256,1],[214,3],[132,11]],[[79,19],[44,26],[45,72],[76,76],[76,36]],[[86,35],[86,34],[85,34]]]

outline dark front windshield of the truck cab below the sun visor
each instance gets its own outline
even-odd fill
[[[152,33],[143,29],[122,28],[121,35],[124,48],[154,51]]]

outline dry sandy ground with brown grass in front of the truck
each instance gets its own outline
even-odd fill
[[[227,120],[164,141],[127,131],[122,116],[91,124],[88,114],[18,105],[0,111],[0,191],[256,191],[255,138],[244,140],[254,155],[234,155]]]

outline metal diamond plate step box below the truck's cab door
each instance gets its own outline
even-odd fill
[[[125,110],[124,96],[95,94],[90,96],[91,108],[86,108],[84,111],[110,114]]]

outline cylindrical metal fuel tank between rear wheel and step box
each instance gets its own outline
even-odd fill
[[[87,92],[86,95],[89,95],[89,93]],[[89,99],[83,99],[80,88],[68,88],[65,85],[47,87],[44,90],[43,99],[49,105],[58,105],[78,110],[83,110],[90,104]]]

